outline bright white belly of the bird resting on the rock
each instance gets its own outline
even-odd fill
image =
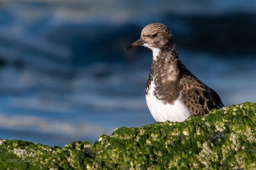
[[[154,81],[152,81],[150,89],[146,95],[146,102],[151,115],[157,122],[165,122],[167,120],[171,122],[182,122],[190,115],[192,115],[188,107],[185,106],[184,102],[181,100],[181,94],[179,99],[174,102],[174,105],[170,105],[158,100],[154,96],[154,89],[155,84]]]

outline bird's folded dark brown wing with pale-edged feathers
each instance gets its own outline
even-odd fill
[[[180,84],[184,104],[195,116],[206,115],[211,109],[224,106],[219,95],[193,74],[183,75]]]

